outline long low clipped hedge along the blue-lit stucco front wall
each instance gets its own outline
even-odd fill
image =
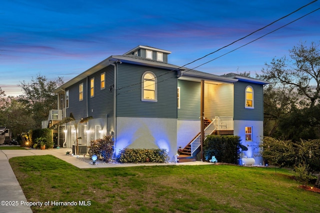
[[[117,156],[119,163],[167,163],[165,149],[123,149]]]

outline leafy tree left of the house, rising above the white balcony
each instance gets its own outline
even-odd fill
[[[53,91],[62,84],[61,77],[48,80],[38,74],[35,79],[32,77],[30,83],[22,81],[18,85],[23,90],[19,101],[27,106],[37,128],[41,128],[42,120],[47,120],[49,110],[56,108],[57,98]]]

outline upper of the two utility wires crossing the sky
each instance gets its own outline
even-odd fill
[[[271,23],[269,23],[269,24],[267,24],[267,25],[265,25],[265,26],[263,26],[263,27],[255,30],[255,31],[253,31],[253,32],[251,32],[251,33],[249,33],[249,34],[247,34],[247,35],[245,35],[245,36],[243,36],[243,37],[241,37],[241,38],[239,38],[239,39],[237,39],[237,40],[235,40],[235,41],[233,41],[233,42],[231,42],[231,43],[229,43],[229,44],[227,44],[227,45],[225,45],[225,46],[223,46],[223,47],[221,47],[221,48],[219,48],[219,49],[217,49],[217,50],[215,50],[215,51],[213,51],[213,52],[210,52],[210,53],[208,53],[208,54],[206,54],[206,55],[204,55],[204,56],[202,56],[202,57],[200,57],[200,58],[197,58],[197,59],[195,59],[195,60],[193,60],[193,61],[191,61],[191,62],[189,62],[189,63],[186,63],[186,64],[184,64],[183,66],[180,66],[180,67],[175,68],[175,69],[173,69],[173,70],[170,70],[170,71],[168,71],[168,72],[166,72],[166,73],[163,73],[163,74],[161,74],[161,75],[158,75],[157,77],[160,77],[160,76],[162,76],[162,75],[166,75],[166,74],[168,74],[168,73],[170,73],[170,72],[172,72],[172,71],[178,70],[178,69],[180,69],[180,68],[182,68],[182,67],[184,67],[184,66],[186,66],[186,65],[189,65],[189,64],[191,64],[191,63],[194,63],[195,61],[201,60],[201,59],[203,59],[203,58],[205,58],[205,57],[207,57],[207,56],[209,56],[209,55],[211,55],[211,54],[213,54],[213,53],[215,53],[215,52],[217,52],[217,51],[219,51],[219,50],[221,50],[221,49],[224,49],[224,48],[226,48],[226,47],[228,47],[228,46],[230,46],[230,45],[232,45],[232,44],[234,44],[234,43],[236,43],[236,42],[238,42],[238,41],[240,41],[240,40],[242,40],[242,39],[244,39],[244,38],[246,38],[246,37],[248,37],[248,36],[250,36],[250,35],[252,35],[252,34],[254,34],[254,33],[256,33],[256,32],[258,32],[258,31],[260,31],[260,30],[262,30],[262,29],[264,29],[264,28],[266,28],[266,27],[268,27],[268,26],[270,26],[270,25],[272,25],[272,24],[274,24],[275,22],[277,22],[277,21],[279,21],[279,20],[281,20],[281,19],[283,19],[283,18],[285,18],[285,17],[287,17],[287,16],[289,16],[289,15],[291,15],[291,14],[299,11],[300,9],[302,9],[302,8],[308,6],[308,5],[310,5],[310,4],[312,4],[312,3],[316,2],[316,1],[317,1],[317,0],[313,0],[313,1],[311,1],[311,2],[309,2],[309,3],[307,3],[307,4],[305,4],[305,5],[303,5],[303,6],[301,6],[301,7],[299,7],[298,9],[290,12],[289,14],[284,15],[284,16],[276,19],[275,21],[272,21]],[[317,9],[316,9],[316,10],[317,10]],[[315,10],[314,10],[314,11],[315,11]],[[312,12],[314,12],[314,11],[312,11]],[[311,12],[311,13],[312,13],[312,12]],[[309,14],[309,13],[308,13],[308,14]],[[304,15],[304,16],[305,16],[305,15]],[[304,17],[304,16],[302,16],[302,17]],[[300,17],[300,18],[302,18],[302,17]],[[299,18],[298,18],[298,19],[299,19]],[[297,20],[297,19],[296,19],[296,20]],[[294,22],[294,21],[293,21],[293,22]],[[290,22],[290,23],[291,23],[291,22]],[[284,25],[284,26],[285,26],[285,25]],[[275,31],[276,31],[276,30],[275,30]],[[270,32],[270,33],[271,33],[271,32]],[[265,34],[265,35],[266,35],[266,34]],[[253,41],[254,41],[254,40],[253,40]],[[253,42],[253,41],[252,41],[252,42]],[[239,48],[240,48],[240,47],[239,47]],[[236,50],[236,49],[234,49],[234,50]],[[233,50],[233,51],[234,51],[234,50]],[[226,54],[227,54],[227,53],[226,53]],[[225,54],[223,54],[223,55],[225,55]],[[221,56],[219,56],[219,57],[222,57],[223,55],[221,55]],[[219,58],[219,57],[218,57],[218,58]],[[210,61],[208,61],[208,62],[210,62]],[[206,63],[208,63],[208,62],[206,62]],[[204,64],[206,64],[206,63],[204,63]],[[203,65],[203,64],[202,64],[202,65]],[[201,66],[201,65],[199,65],[199,66]],[[197,68],[197,67],[199,67],[199,66],[196,66],[195,68]],[[189,70],[190,70],[190,69],[189,69]],[[156,78],[156,77],[154,77],[153,79],[155,79],[155,78]],[[171,77],[170,77],[170,78],[171,78]],[[115,90],[121,90],[121,89],[124,89],[124,88],[127,88],[127,87],[139,85],[139,84],[141,84],[141,83],[143,83],[143,82],[144,82],[144,81],[138,82],[138,83],[135,83],[135,84],[131,84],[131,85],[128,85],[128,86],[116,88]],[[121,93],[122,93],[122,92],[121,92]],[[120,93],[119,93],[119,94],[120,94]]]

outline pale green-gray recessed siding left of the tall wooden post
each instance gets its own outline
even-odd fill
[[[180,87],[180,109],[178,119],[199,120],[200,92],[199,82],[178,80]]]

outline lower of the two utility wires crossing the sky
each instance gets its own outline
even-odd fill
[[[271,33],[275,32],[275,31],[277,31],[277,30],[279,30],[279,29],[281,29],[281,28],[283,28],[283,27],[285,27],[285,26],[287,26],[287,25],[289,25],[289,24],[291,24],[291,23],[293,23],[293,22],[295,22],[295,21],[297,21],[297,20],[299,20],[299,19],[301,19],[301,18],[303,18],[303,17],[305,17],[305,16],[307,16],[307,15],[309,15],[309,14],[317,11],[317,10],[319,10],[319,9],[320,9],[320,7],[316,8],[316,9],[312,10],[311,12],[308,12],[308,13],[306,13],[306,14],[304,14],[304,15],[302,15],[302,16],[300,16],[300,17],[298,17],[298,18],[296,18],[296,19],[294,19],[294,20],[292,20],[292,21],[290,21],[290,22],[288,22],[288,23],[286,23],[286,24],[284,24],[284,25],[282,25],[282,26],[280,26],[280,27],[278,27],[278,28],[270,31],[270,32],[268,32],[268,33],[265,33],[264,35],[262,35],[262,36],[260,36],[260,37],[258,37],[258,38],[255,38],[255,39],[253,39],[253,40],[251,40],[251,41],[249,41],[249,42],[247,42],[247,43],[245,43],[245,44],[243,44],[243,45],[241,45],[241,46],[239,46],[239,47],[237,47],[237,48],[235,48],[235,49],[233,49],[233,50],[231,50],[231,51],[228,51],[228,52],[226,52],[226,53],[224,53],[224,54],[222,54],[222,55],[220,55],[220,56],[218,56],[218,57],[215,57],[215,58],[213,58],[213,59],[211,59],[211,60],[209,60],[209,61],[207,61],[207,62],[205,62],[205,63],[202,63],[202,64],[200,64],[200,65],[198,65],[198,66],[196,66],[196,67],[190,68],[190,69],[188,69],[188,70],[186,70],[186,71],[184,71],[184,72],[182,72],[182,73],[188,72],[188,71],[193,70],[193,69],[195,69],[195,68],[198,68],[198,67],[200,67],[200,66],[202,66],[202,65],[204,65],[204,64],[207,64],[207,63],[209,63],[209,62],[212,62],[212,61],[214,61],[214,60],[216,60],[216,59],[218,59],[218,58],[220,58],[220,57],[222,57],[222,56],[224,56],[224,55],[226,55],[226,54],[229,54],[229,53],[231,53],[231,52],[233,52],[233,51],[235,51],[235,50],[237,50],[237,49],[239,49],[239,48],[241,48],[241,47],[244,47],[244,46],[246,46],[246,45],[248,45],[248,44],[250,44],[250,43],[252,43],[252,42],[254,42],[254,41],[258,40],[258,39],[260,39],[260,38],[263,38],[264,36],[266,36],[266,35],[268,35],[268,34],[271,34]],[[172,71],[173,71],[173,70],[172,70]],[[167,74],[167,73],[166,73],[166,74]],[[163,75],[163,74],[162,74],[162,75]],[[162,75],[160,75],[160,76],[162,76]],[[154,84],[158,84],[158,83],[160,83],[160,82],[163,82],[163,81],[168,80],[168,79],[173,78],[173,77],[176,77],[176,76],[174,75],[174,76],[168,77],[168,78],[163,79],[163,80],[161,80],[161,81],[157,81],[157,82],[154,83]],[[140,84],[140,83],[138,83],[138,84]],[[151,85],[154,85],[154,84],[151,84]],[[137,85],[137,84],[132,84],[132,85],[130,85],[130,86],[134,86],[134,85]],[[128,87],[129,87],[129,86],[128,86]],[[124,88],[124,87],[123,87],[123,88]],[[119,94],[121,94],[121,93],[132,92],[132,91],[137,90],[137,89],[141,89],[141,88],[139,87],[139,88],[135,88],[135,89],[128,90],[128,91],[119,92],[119,93],[117,93],[117,95],[119,95]]]

